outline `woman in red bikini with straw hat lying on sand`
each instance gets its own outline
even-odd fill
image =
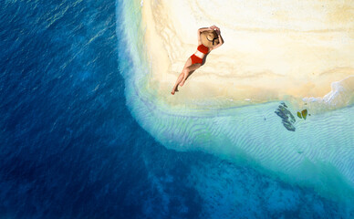
[[[224,44],[220,29],[217,26],[210,26],[198,29],[198,47],[197,51],[188,58],[184,64],[182,73],[177,78],[173,86],[172,95],[178,91],[178,86],[183,86],[185,80],[198,68],[203,66],[205,57],[215,48]]]

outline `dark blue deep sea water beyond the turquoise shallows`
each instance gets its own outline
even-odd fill
[[[1,1],[0,218],[349,218],[313,188],[142,130],[120,4]]]

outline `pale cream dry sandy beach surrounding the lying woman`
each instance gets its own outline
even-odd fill
[[[354,87],[353,1],[145,0],[150,89],[170,104],[230,99],[247,103],[324,97],[331,83]],[[216,25],[224,45],[171,95],[197,47],[197,29]],[[348,95],[347,95],[348,96]]]

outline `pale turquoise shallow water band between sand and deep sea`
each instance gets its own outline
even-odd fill
[[[127,105],[141,127],[162,145],[177,151],[205,151],[238,164],[252,166],[286,183],[314,189],[343,203],[354,201],[354,109],[352,105],[322,112],[283,126],[275,111],[280,102],[231,108],[176,109],[146,88],[150,74],[143,26],[136,5],[125,16],[132,66],[126,79]],[[289,110],[296,115],[290,103]],[[201,106],[201,105],[199,105]],[[321,106],[323,107],[323,106]],[[352,211],[352,209],[350,210]]]

